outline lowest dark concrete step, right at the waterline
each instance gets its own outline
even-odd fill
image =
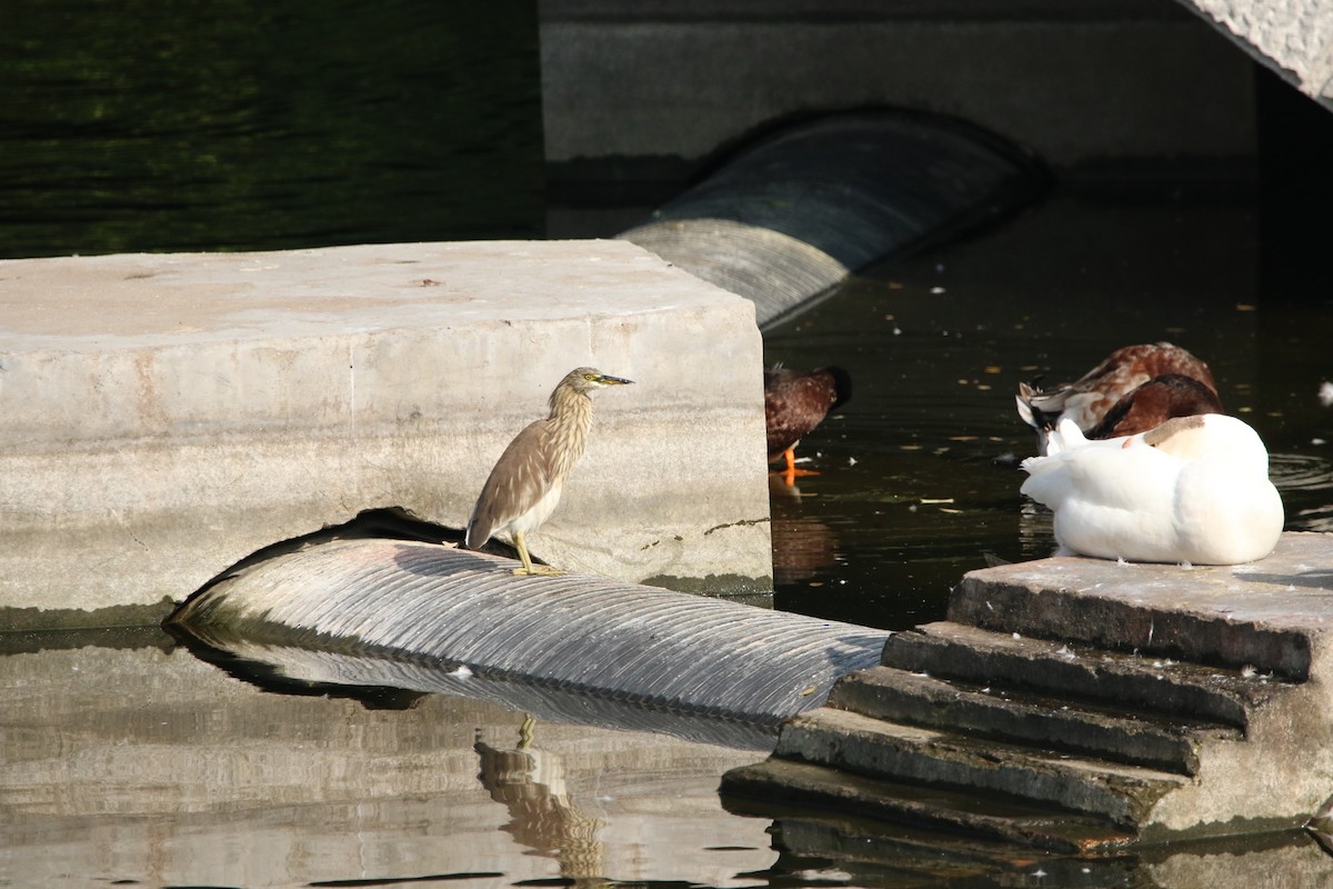
[[[940,832],[970,840],[968,850],[1012,858],[1013,844],[1062,854],[1118,849],[1132,834],[1104,818],[1078,816],[974,790],[902,784],[834,772],[793,760],[768,760],[722,774],[722,805],[728,812],[778,817],[789,822],[793,806],[834,810],[838,817],[866,816],[896,825],[898,842],[917,854],[933,854],[952,844]],[[877,836],[874,842],[885,838]],[[986,845],[996,844],[996,845]]]

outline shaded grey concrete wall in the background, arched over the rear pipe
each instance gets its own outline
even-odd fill
[[[876,105],[970,120],[1060,168],[1254,153],[1249,59],[1172,4],[560,0],[541,8],[541,80],[557,164],[693,160]]]

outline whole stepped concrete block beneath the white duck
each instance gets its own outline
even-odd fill
[[[764,774],[790,774],[785,760],[856,786],[1056,808],[1136,845],[1297,829],[1333,772],[1330,541],[1286,533],[1253,565],[972,572],[948,621],[894,633],[878,668],[784,724]],[[838,800],[804,770],[790,780]]]

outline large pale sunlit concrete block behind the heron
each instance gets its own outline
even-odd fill
[[[460,528],[581,364],[637,385],[599,401],[533,554],[765,588],[753,305],[632,244],[3,261],[0,625],[160,616],[367,509]]]

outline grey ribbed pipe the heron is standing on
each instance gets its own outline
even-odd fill
[[[465,664],[476,674],[772,722],[880,661],[889,633],[431,544],[356,540],[263,562],[172,621],[268,645]]]

